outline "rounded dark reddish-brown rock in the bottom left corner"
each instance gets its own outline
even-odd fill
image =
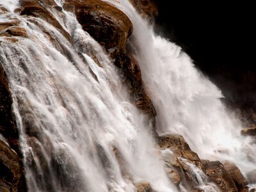
[[[20,157],[0,140],[0,191],[26,191],[24,178]]]

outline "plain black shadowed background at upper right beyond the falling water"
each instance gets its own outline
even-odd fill
[[[180,45],[195,66],[221,89],[231,106],[255,109],[253,3],[160,0],[157,6],[157,33]]]

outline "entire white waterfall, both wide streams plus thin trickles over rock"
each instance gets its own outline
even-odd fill
[[[134,26],[131,44],[157,111],[157,133],[181,134],[200,157],[232,161],[244,174],[252,170],[255,144],[240,135],[241,122],[221,102],[220,90],[179,46],[156,35],[129,1],[108,2]],[[3,4],[10,12],[1,13],[0,22],[19,20],[28,34],[0,36],[0,63],[12,92],[29,191],[127,192],[136,191],[141,181],[155,191],[177,191],[150,132],[153,125],[76,15],[48,10],[63,33],[39,17],[13,12],[19,0]],[[218,191],[196,166],[180,161],[194,173],[199,188]],[[186,191],[181,184],[180,190]]]

